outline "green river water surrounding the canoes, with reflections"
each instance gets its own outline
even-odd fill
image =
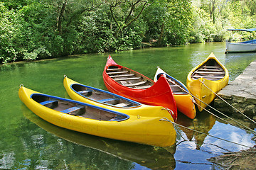
[[[180,128],[177,145],[151,147],[108,140],[58,128],[38,118],[18,98],[20,84],[68,98],[63,75],[105,89],[102,71],[108,55],[118,64],[154,78],[156,66],[186,84],[188,72],[214,52],[230,72],[230,81],[256,60],[255,53],[224,54],[225,43],[149,48],[103,55],[78,55],[57,60],[21,62],[0,67],[0,169],[213,169],[206,159],[247,149]],[[242,145],[253,135],[223,123],[207,112],[195,120],[178,114],[178,123]],[[250,124],[249,124],[250,125]],[[253,127],[250,125],[250,127]]]

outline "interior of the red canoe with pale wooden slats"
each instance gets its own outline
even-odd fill
[[[117,83],[132,89],[148,89],[154,84],[154,81],[124,67],[112,65],[107,68],[106,72]]]

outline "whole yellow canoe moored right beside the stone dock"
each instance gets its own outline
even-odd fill
[[[207,106],[206,104],[213,101],[216,96],[214,93],[218,93],[227,86],[228,78],[228,69],[218,61],[213,52],[204,62],[188,73],[187,87],[195,97],[199,111],[203,111],[203,108]]]

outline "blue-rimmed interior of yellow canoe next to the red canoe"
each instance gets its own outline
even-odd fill
[[[140,103],[128,101],[124,98],[105,93],[104,91],[98,91],[96,89],[83,86],[82,84],[72,84],[71,88],[81,96],[85,96],[86,98],[90,98],[91,100],[105,103],[107,105],[117,107],[134,107],[141,105]]]

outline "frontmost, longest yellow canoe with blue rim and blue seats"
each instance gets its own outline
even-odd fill
[[[18,96],[33,113],[62,128],[146,145],[169,146],[176,141],[173,126],[161,118],[126,115],[23,86]]]

